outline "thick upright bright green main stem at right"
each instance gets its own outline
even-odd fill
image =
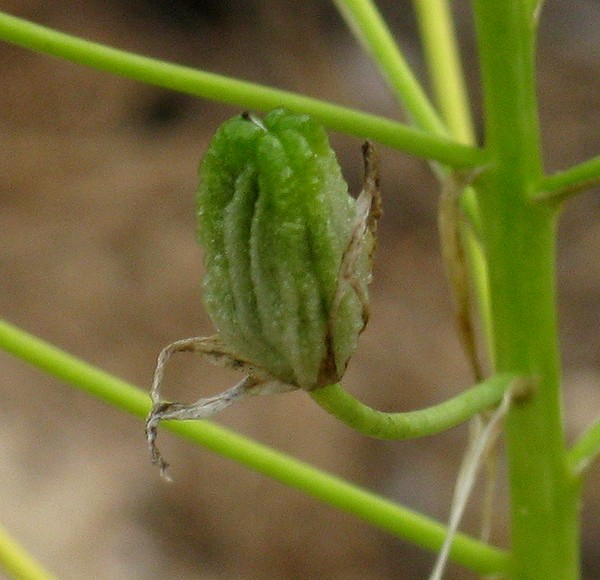
[[[555,291],[556,211],[532,204],[541,160],[535,18],[528,0],[475,0],[486,147],[476,182],[497,372],[537,378],[506,439],[515,580],[579,577],[578,489],[563,431]]]

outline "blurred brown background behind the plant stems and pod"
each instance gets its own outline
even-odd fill
[[[378,2],[422,75],[408,2]],[[549,171],[600,151],[600,3],[548,0],[540,100]],[[471,87],[467,2],[454,3]],[[374,67],[325,0],[19,0],[18,16],[120,48],[396,117]],[[0,315],[138,385],[159,350],[210,334],[194,241],[198,160],[239,112],[0,44]],[[478,92],[472,91],[475,110]],[[358,140],[333,135],[352,190]],[[437,249],[437,187],[424,162],[383,156],[385,216],[373,317],[345,384],[385,410],[467,384]],[[562,221],[566,416],[600,412],[600,198]],[[180,357],[174,398],[236,377]],[[296,491],[161,433],[172,485],[140,421],[0,354],[0,521],[61,578],[426,578],[433,556]],[[445,520],[466,428],[427,440],[356,435],[303,393],[250,400],[224,425]],[[584,505],[587,578],[600,577],[600,468]],[[504,484],[495,539],[506,541]],[[478,488],[464,529],[477,533]],[[470,578],[451,567],[448,578]]]

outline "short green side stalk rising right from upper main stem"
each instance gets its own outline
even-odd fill
[[[560,203],[585,189],[600,185],[600,156],[566,171],[542,177],[533,200]]]

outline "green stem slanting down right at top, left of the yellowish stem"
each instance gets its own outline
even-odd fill
[[[358,41],[372,55],[400,105],[414,123],[435,135],[448,131],[413,75],[377,7],[370,0],[334,0]]]

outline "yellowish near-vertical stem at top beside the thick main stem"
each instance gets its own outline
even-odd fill
[[[472,145],[475,132],[447,0],[413,0],[437,105],[450,134]]]

